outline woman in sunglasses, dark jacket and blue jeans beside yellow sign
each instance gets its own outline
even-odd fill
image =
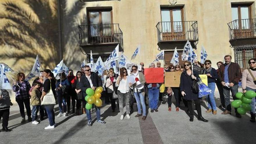
[[[217,71],[211,67],[211,61],[205,61],[205,70],[203,70],[202,74],[207,75],[208,87],[211,90],[211,93],[206,96],[208,102],[208,110],[206,113],[213,113],[214,115],[217,114],[216,102],[214,99],[214,91],[215,91],[215,82],[218,78]]]

